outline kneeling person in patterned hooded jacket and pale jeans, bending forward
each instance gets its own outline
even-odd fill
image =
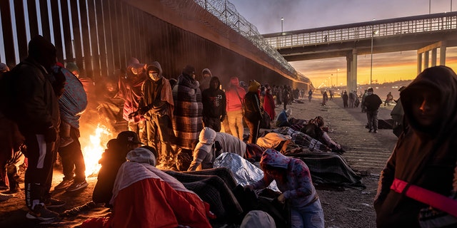
[[[260,165],[263,178],[246,188],[263,189],[276,180],[282,192],[278,201],[287,202],[290,207],[291,227],[324,227],[321,202],[305,162],[268,149],[263,152]]]

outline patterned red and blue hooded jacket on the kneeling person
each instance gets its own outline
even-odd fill
[[[286,180],[276,180],[276,185],[284,197],[289,199],[291,207],[303,207],[316,199],[317,192],[311,180],[311,173],[302,160],[286,157],[276,150],[267,149],[263,152],[260,163],[287,170]],[[273,182],[273,177],[265,172],[263,175],[265,176],[253,185],[254,189],[268,187]]]

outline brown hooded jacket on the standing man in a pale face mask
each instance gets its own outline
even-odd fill
[[[153,62],[146,69],[148,72],[151,68],[159,70],[159,76],[162,76],[162,67],[159,62]],[[173,120],[174,100],[173,91],[171,91],[170,81],[164,76],[159,81],[152,80],[149,76],[141,88],[141,108],[146,107],[146,115],[169,115]]]

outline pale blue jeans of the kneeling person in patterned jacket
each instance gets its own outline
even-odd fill
[[[306,207],[291,207],[291,227],[323,228],[323,210],[319,199]]]

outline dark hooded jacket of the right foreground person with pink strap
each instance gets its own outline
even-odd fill
[[[413,117],[411,100],[423,90],[439,93],[441,110],[433,128],[423,128]],[[457,76],[451,68],[427,68],[403,91],[410,127],[398,138],[381,172],[374,207],[378,227],[418,227],[420,209],[428,205],[391,190],[394,178],[448,196],[453,189],[457,146]]]

